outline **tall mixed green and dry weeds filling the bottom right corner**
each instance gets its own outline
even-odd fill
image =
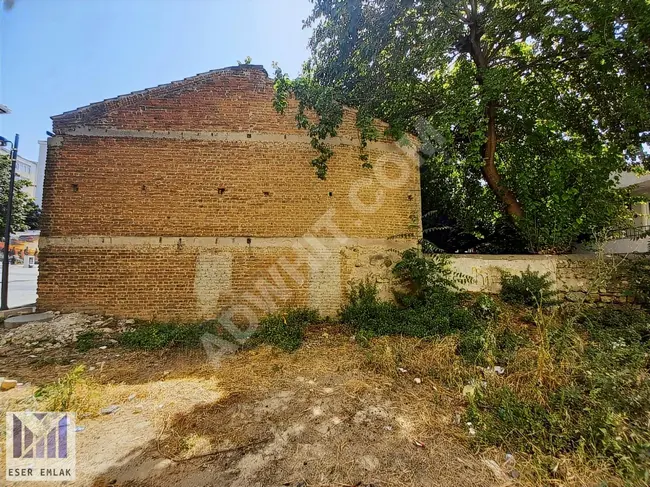
[[[477,390],[467,411],[475,440],[509,451],[599,458],[645,485],[650,317],[604,308],[570,318],[540,316],[503,382]]]

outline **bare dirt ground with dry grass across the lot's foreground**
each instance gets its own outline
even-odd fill
[[[37,410],[37,386],[85,364],[79,486],[520,485],[505,452],[470,449],[460,391],[374,371],[367,353],[336,327],[311,331],[293,354],[261,347],[218,367],[203,350],[68,345],[34,357],[5,346],[0,376],[24,385],[0,404]]]

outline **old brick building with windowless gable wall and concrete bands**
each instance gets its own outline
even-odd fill
[[[369,144],[345,113],[326,180],[260,66],[200,74],[53,118],[38,307],[145,319],[333,315],[348,284],[389,279],[420,232],[413,147]]]

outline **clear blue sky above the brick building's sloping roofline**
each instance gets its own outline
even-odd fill
[[[0,13],[0,134],[38,157],[50,116],[246,56],[291,75],[309,0],[16,0]]]

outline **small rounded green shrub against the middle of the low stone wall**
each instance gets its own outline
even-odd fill
[[[530,267],[520,276],[501,272],[501,299],[506,303],[526,306],[543,306],[555,304],[556,292],[550,273],[541,274],[531,271]]]

